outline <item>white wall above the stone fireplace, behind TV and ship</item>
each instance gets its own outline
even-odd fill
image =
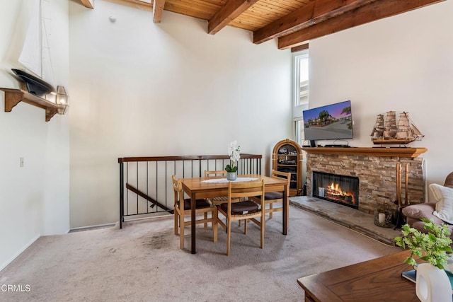
[[[453,1],[310,41],[310,108],[351,100],[352,146],[372,146],[376,115],[409,112],[425,138],[428,183],[453,171]]]

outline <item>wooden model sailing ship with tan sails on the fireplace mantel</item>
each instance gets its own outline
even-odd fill
[[[408,112],[389,111],[385,115],[377,115],[372,136],[373,144],[406,145],[412,141],[421,141],[424,137],[420,130],[409,120]]]

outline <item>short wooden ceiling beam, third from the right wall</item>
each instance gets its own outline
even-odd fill
[[[207,33],[214,35],[258,0],[228,0],[207,23]]]

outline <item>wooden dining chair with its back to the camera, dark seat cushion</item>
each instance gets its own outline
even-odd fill
[[[251,201],[249,198],[260,198],[260,204]],[[232,202],[235,198],[246,198],[241,202]],[[226,255],[230,254],[231,245],[231,221],[245,220],[244,234],[247,234],[248,220],[253,221],[260,227],[260,248],[264,248],[265,212],[264,205],[264,180],[251,182],[229,182],[228,201],[219,205],[221,213],[226,222],[217,216],[217,222],[226,230]],[[258,221],[257,218],[260,218]]]

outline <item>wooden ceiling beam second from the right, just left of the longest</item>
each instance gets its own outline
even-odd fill
[[[302,30],[311,25],[326,21],[328,18],[333,18],[351,11],[352,9],[364,6],[371,2],[379,0],[315,0],[302,6],[296,11],[287,14],[286,16],[266,25],[259,30],[253,32],[253,43],[260,44],[262,42],[272,40],[275,37],[287,35],[297,30]]]

